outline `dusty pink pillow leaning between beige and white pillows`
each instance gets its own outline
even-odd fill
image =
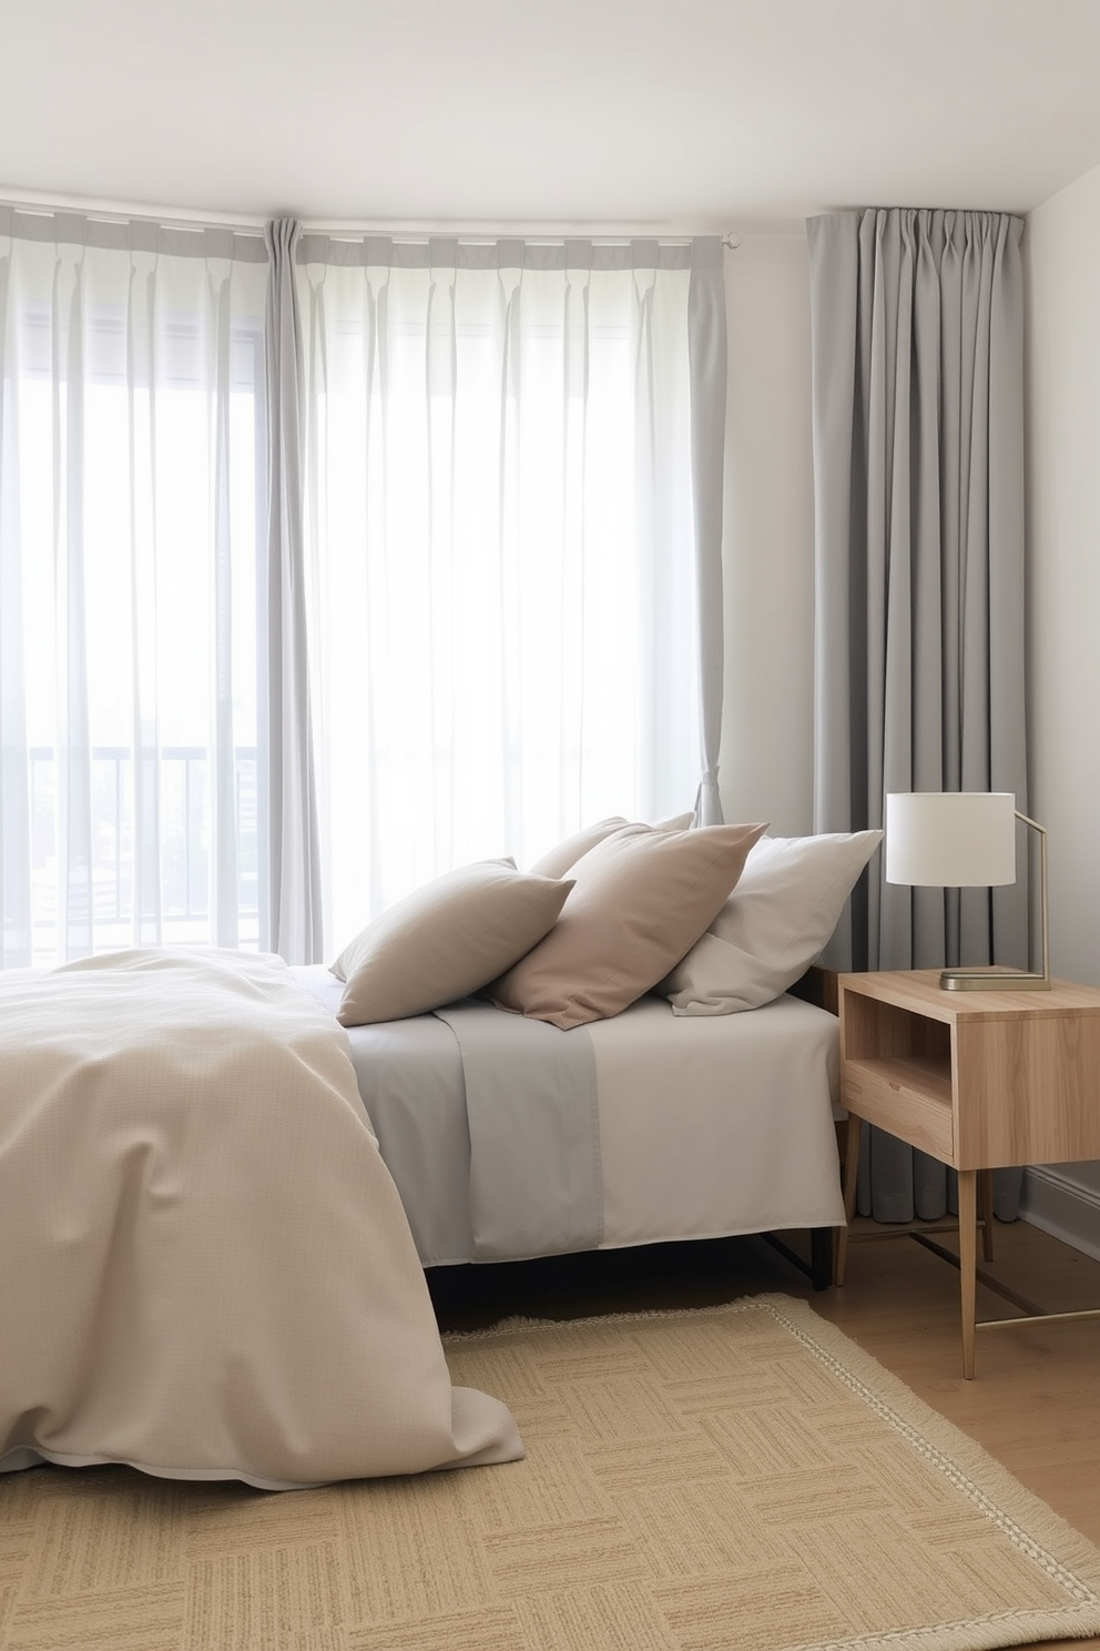
[[[572,867],[554,928],[490,999],[562,1029],[617,1015],[694,946],[764,829],[625,826],[605,837]]]

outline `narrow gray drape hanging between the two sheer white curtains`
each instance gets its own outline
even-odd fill
[[[302,340],[294,286],[299,225],[264,229],[269,266],[267,355],[267,796],[269,946],[287,963],[320,963],[322,873],[302,522]]]

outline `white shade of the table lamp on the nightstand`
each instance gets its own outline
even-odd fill
[[[886,880],[928,888],[1016,882],[1011,791],[905,791],[886,799]]]

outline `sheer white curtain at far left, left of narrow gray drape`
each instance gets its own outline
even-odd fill
[[[259,236],[0,210],[7,966],[266,944]]]

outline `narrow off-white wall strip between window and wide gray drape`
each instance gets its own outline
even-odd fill
[[[726,254],[726,819],[813,829],[813,428],[805,236]]]

